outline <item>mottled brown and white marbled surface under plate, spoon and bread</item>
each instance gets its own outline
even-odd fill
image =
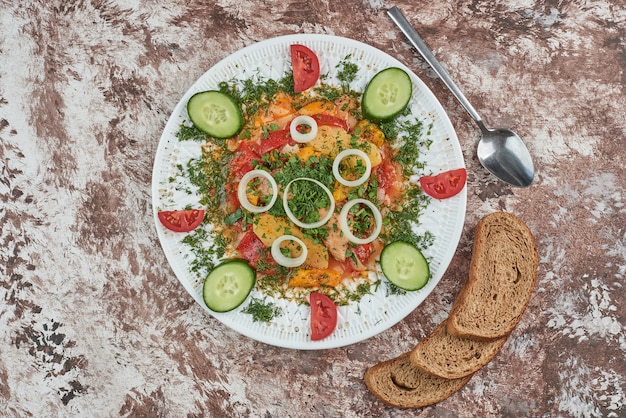
[[[0,410],[4,416],[626,416],[626,8],[621,0],[2,1]],[[537,175],[495,180],[479,131],[386,15],[401,7]],[[326,33],[405,62],[446,108],[468,167],[461,242],[403,321],[324,351],[224,327],[172,274],[152,163],[189,86],[254,42]],[[472,228],[497,210],[535,234],[538,283],[496,358],[421,410],[379,403],[364,371],[446,316]]]

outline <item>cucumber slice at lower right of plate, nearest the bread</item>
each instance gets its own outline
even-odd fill
[[[422,252],[404,241],[383,248],[380,267],[387,279],[404,290],[418,290],[430,279],[430,267]]]

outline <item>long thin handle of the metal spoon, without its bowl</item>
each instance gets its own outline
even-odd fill
[[[426,42],[422,39],[421,36],[415,31],[413,26],[406,19],[404,14],[400,9],[396,6],[393,6],[391,9],[387,10],[387,14],[391,17],[391,20],[400,28],[402,33],[407,37],[407,39],[411,42],[411,44],[417,49],[417,51],[422,55],[424,60],[432,67],[432,69],[437,73],[441,81],[450,89],[454,97],[463,105],[467,113],[474,119],[476,123],[482,128],[483,122],[481,117],[478,115],[474,107],[470,104],[470,102],[465,98],[465,95],[459,90],[456,86],[448,72],[441,66],[437,58],[433,55],[432,51],[426,45]]]

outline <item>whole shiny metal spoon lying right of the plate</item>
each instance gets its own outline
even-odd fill
[[[478,142],[477,154],[483,167],[500,180],[513,186],[530,186],[535,176],[535,168],[522,139],[508,129],[487,128],[474,107],[426,46],[424,40],[404,17],[402,11],[394,6],[387,11],[387,14],[480,127],[482,137]]]

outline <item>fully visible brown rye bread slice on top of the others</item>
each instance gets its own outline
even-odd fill
[[[467,282],[448,317],[448,333],[489,341],[518,324],[537,280],[535,239],[524,222],[506,212],[485,216],[474,230]]]

